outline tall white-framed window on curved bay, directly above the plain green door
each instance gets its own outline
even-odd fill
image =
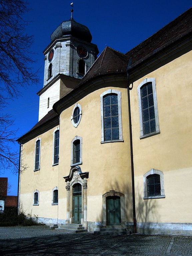
[[[121,92],[107,90],[101,100],[101,143],[123,141],[121,120]]]

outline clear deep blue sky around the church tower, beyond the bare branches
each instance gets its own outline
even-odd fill
[[[56,27],[62,21],[70,19],[72,1],[28,0],[28,2],[32,10],[24,18],[30,21],[27,27],[28,34],[34,36],[31,51],[36,54],[37,62],[34,67],[40,69],[40,83],[22,89],[22,96],[10,102],[7,108],[7,112],[15,120],[13,129],[19,128],[18,137],[29,131],[38,121],[39,96],[36,93],[43,87],[42,51],[50,43],[50,35]],[[97,44],[100,53],[105,46],[126,53],[190,7],[192,7],[191,0],[74,0],[73,18],[89,28],[93,37],[92,43]],[[19,145],[16,144],[15,147],[19,149]],[[11,185],[8,194],[17,195],[17,175],[6,170],[1,177],[8,177],[8,183]]]

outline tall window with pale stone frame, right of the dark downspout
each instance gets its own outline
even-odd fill
[[[137,88],[140,138],[160,133],[155,78],[145,78]]]

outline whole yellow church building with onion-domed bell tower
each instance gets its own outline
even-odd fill
[[[20,209],[71,232],[192,235],[192,8],[99,56],[72,14],[43,51],[39,120],[18,139]]]

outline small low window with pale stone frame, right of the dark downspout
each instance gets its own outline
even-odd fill
[[[165,198],[163,172],[151,169],[143,175],[143,199]]]

